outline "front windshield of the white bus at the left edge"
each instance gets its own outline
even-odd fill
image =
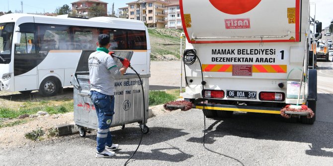
[[[0,23],[0,63],[10,61],[14,23]]]

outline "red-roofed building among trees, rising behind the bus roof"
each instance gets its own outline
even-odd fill
[[[85,18],[89,18],[90,7],[100,5],[103,7],[103,11],[101,12],[101,16],[107,16],[107,2],[101,0],[79,0],[72,2],[72,10],[76,10],[79,16],[83,16]]]

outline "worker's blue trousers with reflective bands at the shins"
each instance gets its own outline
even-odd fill
[[[98,117],[97,151],[102,152],[106,146],[112,145],[110,125],[114,114],[114,97],[96,91],[90,91],[90,98]]]

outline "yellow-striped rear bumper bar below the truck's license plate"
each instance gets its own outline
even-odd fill
[[[272,113],[272,114],[280,114],[280,110],[282,109],[282,108],[270,108],[270,107],[234,106],[234,105],[202,104],[202,103],[196,104],[195,108],[207,109],[207,110],[244,111],[244,112]]]

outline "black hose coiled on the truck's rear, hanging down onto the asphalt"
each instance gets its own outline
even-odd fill
[[[199,63],[200,63],[201,85],[202,85],[202,92],[204,93],[204,90],[205,90],[204,86],[205,86],[206,82],[203,80],[202,65],[201,65],[201,61],[200,61],[199,57],[196,55],[196,50],[192,49],[192,50],[185,50],[184,51],[184,55],[183,55],[183,62],[184,62],[184,64],[186,64],[186,65],[192,65],[195,62],[196,59],[198,59]],[[186,72],[185,72],[185,80],[186,80]],[[202,95],[202,97],[203,97],[203,99],[205,101],[205,95]],[[203,105],[203,109],[202,110],[205,110],[205,105]],[[233,158],[231,156],[228,156],[228,155],[225,155],[225,154],[213,151],[213,150],[211,150],[211,149],[209,149],[209,148],[206,147],[206,145],[205,145],[205,138],[206,138],[206,116],[205,116],[205,114],[203,114],[203,119],[204,119],[203,147],[205,149],[207,149],[208,151],[210,151],[210,152],[213,152],[213,153],[225,156],[225,157],[230,158],[230,159],[234,159],[237,162],[239,162],[242,166],[245,166],[240,160],[238,160],[236,158]]]

